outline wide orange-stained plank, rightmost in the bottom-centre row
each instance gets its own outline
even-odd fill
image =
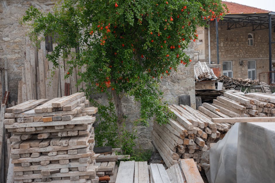
[[[180,159],[179,163],[187,183],[204,183],[194,159]]]

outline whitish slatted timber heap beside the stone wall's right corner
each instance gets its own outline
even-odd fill
[[[217,77],[213,72],[213,69],[206,65],[206,62],[197,62],[194,66],[194,74],[196,81],[203,80],[216,80]]]

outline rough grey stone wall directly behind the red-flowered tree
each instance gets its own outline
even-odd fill
[[[22,68],[24,67],[25,45],[27,27],[19,25],[19,19],[25,14],[30,6],[49,12],[54,3],[51,0],[2,0],[0,1],[0,58],[1,61],[8,61],[8,88],[11,91],[10,101],[17,101],[18,81],[22,79]],[[193,44],[185,52],[193,58]],[[3,60],[2,60],[3,59]],[[2,64],[2,62],[1,62]],[[161,89],[164,92],[164,99],[169,104],[179,104],[180,95],[190,95],[191,106],[195,107],[195,80],[194,63],[188,67],[180,65],[178,72],[172,72],[170,76],[163,79]],[[105,95],[94,96],[102,104],[106,104]],[[123,110],[128,116],[128,127],[132,126],[132,121],[139,117],[138,103],[131,97],[123,97]],[[138,142],[145,148],[151,145],[151,122],[149,127],[138,126]]]

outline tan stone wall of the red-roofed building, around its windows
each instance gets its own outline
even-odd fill
[[[272,29],[273,30],[273,29]],[[256,61],[256,77],[261,72],[269,71],[269,44],[268,29],[252,31],[252,26],[227,30],[227,24],[223,26],[219,22],[219,60],[232,61],[234,78],[248,78],[248,60]],[[248,34],[254,36],[253,46],[248,46]],[[275,33],[272,31],[272,41]],[[216,27],[214,22],[210,24],[211,62],[217,64],[216,53]],[[208,29],[198,28],[198,40],[195,51],[200,53],[201,62],[209,62],[208,54]],[[272,44],[272,57],[275,61],[275,46]],[[242,62],[242,65],[240,64]],[[222,69],[222,67],[221,67]],[[222,71],[221,71],[222,73]],[[266,80],[265,76],[261,80]]]

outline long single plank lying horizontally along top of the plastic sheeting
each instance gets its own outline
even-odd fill
[[[247,118],[212,118],[214,123],[262,123],[275,122],[275,117],[247,117]]]

